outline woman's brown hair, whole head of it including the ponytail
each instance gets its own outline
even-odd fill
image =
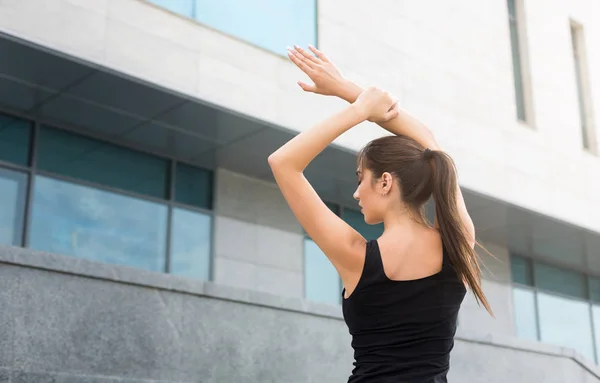
[[[423,148],[407,136],[385,136],[369,142],[358,154],[358,162],[373,173],[374,179],[385,172],[398,178],[402,200],[424,222],[427,222],[425,203],[433,197],[442,243],[450,262],[459,279],[473,291],[477,303],[483,304],[493,316],[481,288],[479,257],[470,245],[470,235],[459,215],[458,181],[452,158],[443,151]]]

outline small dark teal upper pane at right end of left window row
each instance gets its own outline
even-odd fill
[[[211,171],[178,163],[175,200],[186,205],[212,209],[212,183]]]

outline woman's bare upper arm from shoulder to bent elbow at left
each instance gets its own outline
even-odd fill
[[[366,248],[362,235],[325,205],[303,173],[284,171],[275,164],[271,168],[292,212],[342,280],[347,279],[348,273],[360,273]]]

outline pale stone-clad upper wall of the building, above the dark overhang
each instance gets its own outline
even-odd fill
[[[600,116],[600,5],[524,3],[533,127],[516,119],[505,0],[320,0],[319,44],[428,123],[463,186],[600,231],[600,160],[581,149],[569,36],[570,19],[583,24]],[[343,105],[299,91],[286,58],[140,0],[3,0],[0,31],[296,131]],[[382,133],[367,124],[338,143]]]

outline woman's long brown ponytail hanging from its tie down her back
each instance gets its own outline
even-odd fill
[[[443,151],[426,149],[424,155],[426,160],[433,162],[432,195],[442,243],[459,279],[471,288],[477,303],[483,304],[490,315],[494,316],[481,288],[479,257],[472,245],[477,242],[466,230],[458,211],[458,182],[454,161]]]

